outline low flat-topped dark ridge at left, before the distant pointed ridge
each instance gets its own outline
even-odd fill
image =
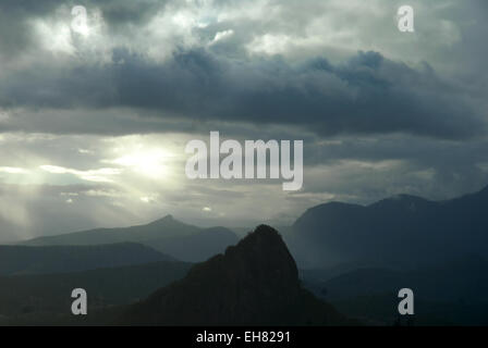
[[[0,246],[0,275],[77,272],[172,260],[174,259],[171,257],[134,243],[102,246]]]

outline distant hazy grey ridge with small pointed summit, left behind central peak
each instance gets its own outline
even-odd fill
[[[97,228],[27,240],[23,245],[103,245],[122,241],[141,243],[187,262],[205,261],[239,240],[224,227],[199,228],[171,215],[146,225]]]

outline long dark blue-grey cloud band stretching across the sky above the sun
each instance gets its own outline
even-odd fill
[[[428,65],[418,70],[359,52],[342,64],[325,58],[229,60],[180,51],[155,63],[127,50],[111,65],[47,65],[0,82],[3,107],[129,107],[160,117],[285,124],[319,135],[407,133],[467,138],[485,130],[463,89]]]

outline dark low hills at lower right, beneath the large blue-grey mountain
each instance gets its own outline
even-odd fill
[[[399,289],[415,294],[415,325],[487,325],[488,261],[464,256],[415,270],[357,269],[329,277],[307,272],[304,283],[342,313],[392,325]]]

